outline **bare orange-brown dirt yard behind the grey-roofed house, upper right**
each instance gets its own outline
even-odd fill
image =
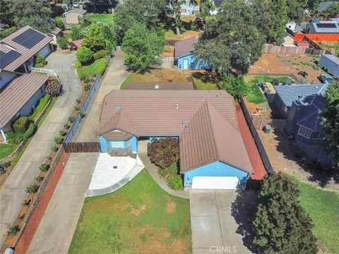
[[[263,54],[261,58],[249,68],[249,73],[270,73],[270,74],[293,74],[300,81],[302,75],[299,71],[306,71],[309,75],[305,83],[319,83],[318,76],[325,73],[321,69],[316,70],[316,61],[319,56],[290,55],[290,54]],[[316,69],[314,69],[316,68]]]

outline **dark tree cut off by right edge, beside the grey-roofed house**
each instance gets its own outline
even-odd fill
[[[321,112],[321,125],[328,142],[324,149],[331,154],[333,161],[339,163],[339,81],[328,85],[323,96],[325,108]]]

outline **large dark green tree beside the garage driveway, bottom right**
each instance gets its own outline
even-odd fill
[[[311,219],[299,204],[298,195],[297,186],[284,174],[265,176],[252,222],[258,253],[318,252]]]

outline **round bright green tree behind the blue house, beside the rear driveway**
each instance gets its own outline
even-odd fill
[[[162,52],[163,47],[164,38],[156,32],[150,32],[142,23],[129,28],[122,42],[125,63],[138,71],[145,71],[160,63],[160,59],[155,56]]]

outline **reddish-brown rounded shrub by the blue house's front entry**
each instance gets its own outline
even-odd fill
[[[179,159],[179,144],[176,138],[160,138],[147,145],[150,161],[164,169]]]

